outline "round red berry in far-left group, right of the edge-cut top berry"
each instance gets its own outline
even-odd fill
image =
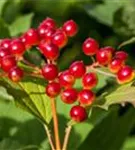
[[[12,40],[9,49],[13,55],[17,56],[20,56],[25,52],[25,46],[19,39]]]

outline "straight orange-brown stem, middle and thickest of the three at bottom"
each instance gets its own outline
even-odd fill
[[[57,118],[57,112],[56,112],[56,103],[55,103],[54,98],[50,98],[50,100],[51,100],[51,107],[52,107],[56,150],[61,150],[60,138],[59,138],[59,128],[58,128],[58,118]]]

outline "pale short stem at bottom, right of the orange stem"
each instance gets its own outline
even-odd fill
[[[62,150],[66,150],[67,149],[67,145],[68,145],[68,140],[69,140],[71,129],[72,129],[71,125],[66,128],[66,133],[65,133],[65,137],[64,137]]]

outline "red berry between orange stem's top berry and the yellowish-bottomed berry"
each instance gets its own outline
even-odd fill
[[[61,93],[61,100],[66,104],[72,104],[77,100],[78,92],[76,89],[65,89]]]

